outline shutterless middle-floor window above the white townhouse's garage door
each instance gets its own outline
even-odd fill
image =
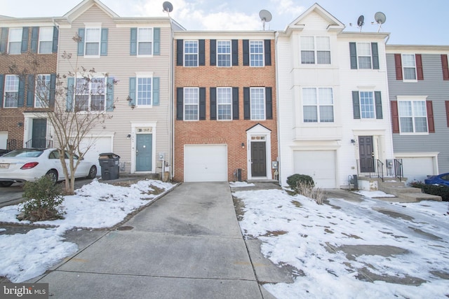
[[[333,123],[332,88],[302,88],[304,123]]]

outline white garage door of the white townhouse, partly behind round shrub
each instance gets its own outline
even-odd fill
[[[335,151],[294,151],[295,174],[308,174],[319,188],[336,188]]]

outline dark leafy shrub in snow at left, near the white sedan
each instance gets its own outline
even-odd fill
[[[23,204],[24,219],[29,221],[53,220],[62,217],[58,207],[64,201],[62,188],[49,176],[41,176],[36,181],[27,181],[23,186],[23,195],[27,201]]]

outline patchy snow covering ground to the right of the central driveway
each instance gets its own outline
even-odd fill
[[[276,298],[449,295],[448,280],[435,274],[442,272],[447,277],[449,273],[448,202],[400,204],[364,197],[362,202],[330,199],[330,205],[319,205],[302,195],[288,195],[285,190],[236,191],[233,195],[244,203],[240,222],[243,235],[260,239],[262,253],[273,263],[292,265],[303,272],[293,284],[264,284]],[[328,245],[337,252],[326,250]],[[408,253],[348,259],[338,250],[343,245],[389,245]],[[381,276],[417,277],[426,282],[407,286],[361,281],[356,276],[363,267]]]

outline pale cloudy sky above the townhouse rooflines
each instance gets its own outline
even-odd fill
[[[121,17],[166,16],[164,0],[102,0]],[[359,15],[364,15],[362,32],[377,32],[372,25],[378,11],[387,16],[380,28],[390,32],[388,44],[447,45],[449,0],[170,0],[170,17],[189,30],[262,30],[259,12],[272,13],[265,29],[283,30],[315,2],[346,25],[345,31],[356,31]],[[11,17],[60,17],[81,0],[0,0],[0,15]],[[349,24],[352,23],[353,26]]]

